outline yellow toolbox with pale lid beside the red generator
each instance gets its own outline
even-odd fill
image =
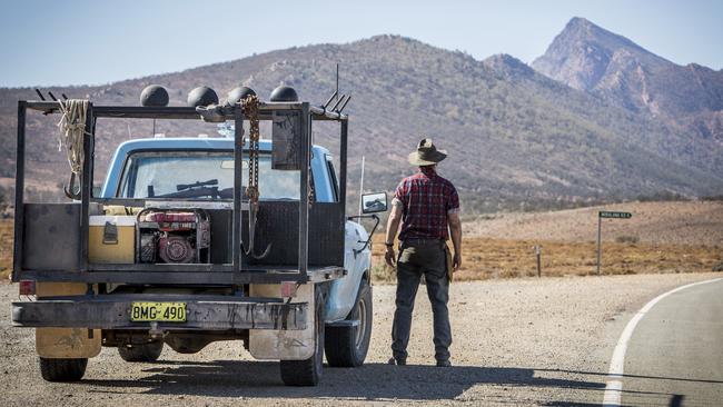
[[[135,216],[91,216],[89,224],[88,260],[90,262],[135,262]]]

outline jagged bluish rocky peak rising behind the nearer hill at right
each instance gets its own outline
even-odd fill
[[[679,66],[630,39],[574,18],[532,66],[575,89],[645,112],[696,142],[723,142],[723,71]]]

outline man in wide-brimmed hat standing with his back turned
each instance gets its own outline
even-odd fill
[[[424,275],[427,296],[434,314],[434,346],[437,366],[452,366],[449,345],[449,281],[453,270],[462,265],[462,222],[459,198],[448,180],[436,172],[437,162],[447,157],[437,150],[432,139],[419,141],[409,163],[419,167],[414,176],[402,180],[392,201],[385,245],[386,262],[397,267],[397,298],[392,327],[390,365],[406,365],[407,344],[412,328],[412,311],[419,280]],[[394,238],[399,232],[399,257],[394,252]],[[449,259],[447,239],[452,234],[454,259]]]

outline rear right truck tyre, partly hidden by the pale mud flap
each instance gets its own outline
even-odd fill
[[[324,295],[320,285],[315,290],[315,349],[314,355],[304,360],[281,360],[281,380],[287,386],[316,386],[324,369]]]

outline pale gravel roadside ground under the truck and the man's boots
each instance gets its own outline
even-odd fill
[[[660,292],[720,274],[498,279],[452,287],[454,367],[433,366],[432,317],[420,287],[409,365],[385,364],[394,286],[374,287],[374,331],[360,368],[325,368],[313,388],[284,387],[278,363],[255,361],[240,343],[196,355],[168,347],[155,364],[123,363],[115,348],[85,379],[40,378],[33,331],[10,327],[17,286],[0,284],[0,405],[338,406],[600,404],[614,343],[631,311]]]

